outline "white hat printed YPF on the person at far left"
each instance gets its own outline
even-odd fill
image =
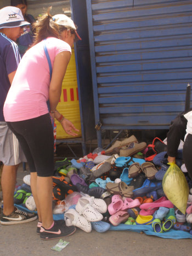
[[[22,12],[14,6],[7,6],[0,10],[0,29],[5,27],[20,27],[30,25],[24,20]]]

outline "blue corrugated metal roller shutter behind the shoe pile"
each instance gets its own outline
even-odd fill
[[[87,14],[95,123],[167,129],[192,85],[192,1],[87,0]]]

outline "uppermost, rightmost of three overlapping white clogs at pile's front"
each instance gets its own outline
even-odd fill
[[[108,207],[103,199],[94,197],[81,197],[81,201],[84,201],[85,204],[89,203],[99,213],[106,213],[108,210]]]

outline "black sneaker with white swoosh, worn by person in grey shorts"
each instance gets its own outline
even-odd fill
[[[13,213],[9,215],[1,215],[0,223],[3,225],[12,225],[12,224],[20,224],[26,223],[37,219],[37,214],[22,212],[15,207]]]

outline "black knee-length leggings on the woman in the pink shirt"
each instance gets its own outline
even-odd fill
[[[49,177],[54,172],[54,137],[50,115],[24,121],[7,122],[18,138],[31,172]]]

